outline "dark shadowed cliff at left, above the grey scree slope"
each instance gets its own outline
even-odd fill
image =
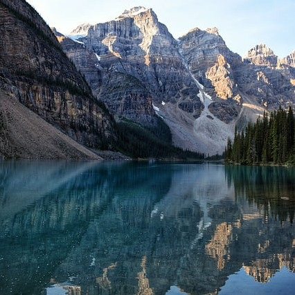
[[[111,141],[110,118],[26,1],[0,1],[0,34],[1,89],[75,141],[90,147]]]

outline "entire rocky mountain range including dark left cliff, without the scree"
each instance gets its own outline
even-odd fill
[[[183,150],[221,154],[235,125],[295,105],[295,51],[280,59],[260,44],[242,58],[217,28],[175,39],[141,6],[69,37],[24,0],[0,0],[0,16],[1,96],[87,147],[113,149],[123,123]]]

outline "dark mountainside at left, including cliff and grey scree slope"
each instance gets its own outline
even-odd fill
[[[110,147],[114,123],[51,28],[0,0],[0,35],[0,157],[98,159],[82,145]]]

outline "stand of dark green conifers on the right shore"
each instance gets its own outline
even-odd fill
[[[226,163],[252,164],[295,164],[295,129],[292,108],[281,107],[264,113],[256,123],[248,123],[246,129],[235,128],[233,141],[228,139],[224,151]]]

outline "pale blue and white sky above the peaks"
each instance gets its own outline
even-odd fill
[[[27,0],[46,23],[68,34],[80,24],[111,21],[134,6],[152,8],[175,38],[216,27],[242,57],[266,44],[278,57],[295,50],[294,0]]]

